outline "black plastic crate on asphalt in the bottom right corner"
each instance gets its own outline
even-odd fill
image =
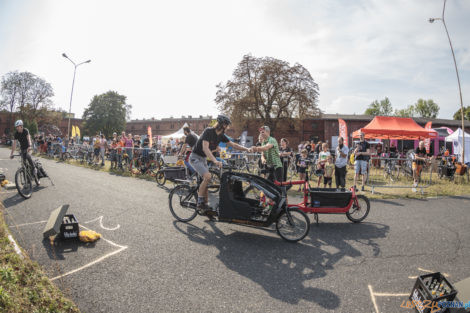
[[[429,300],[435,303],[440,301],[453,301],[457,296],[457,290],[439,272],[421,275],[416,279],[415,286],[411,291],[410,300],[415,304],[415,311],[419,313],[431,312],[431,306],[425,305]],[[433,313],[448,312],[448,308],[442,308]]]

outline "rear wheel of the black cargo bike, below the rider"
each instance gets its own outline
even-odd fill
[[[180,222],[192,221],[196,215],[197,191],[188,185],[178,185],[168,196],[170,212]]]

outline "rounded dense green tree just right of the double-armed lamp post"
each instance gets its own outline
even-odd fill
[[[84,130],[88,135],[102,132],[111,137],[113,132],[120,132],[126,126],[126,117],[132,106],[126,103],[126,96],[115,91],[94,96],[83,113]]]

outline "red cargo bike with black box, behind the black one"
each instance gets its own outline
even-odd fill
[[[302,202],[288,204],[291,209],[299,209],[307,214],[314,214],[318,223],[318,214],[346,214],[354,223],[362,222],[370,211],[370,201],[365,195],[358,195],[354,187],[349,190],[335,188],[311,188],[308,180],[308,170],[305,180],[275,182],[280,187],[290,188],[303,185]]]

